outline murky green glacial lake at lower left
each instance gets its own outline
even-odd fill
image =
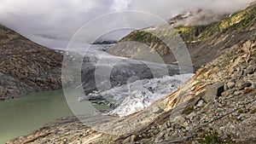
[[[108,109],[107,106],[93,106],[89,101],[77,101],[79,96],[83,96],[79,90],[70,89],[68,93],[73,96],[65,97],[60,89],[0,101],[0,143],[28,135],[56,118],[73,116],[69,106],[75,106],[76,114]]]

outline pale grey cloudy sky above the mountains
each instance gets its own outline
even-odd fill
[[[37,43],[55,48],[66,47],[75,32],[102,14],[139,10],[167,20],[187,9],[232,13],[250,2],[253,0],[0,0],[0,24]],[[113,16],[106,23],[127,27],[127,23],[136,23],[137,20],[131,17],[120,20]],[[148,22],[132,26],[150,25],[152,23]]]

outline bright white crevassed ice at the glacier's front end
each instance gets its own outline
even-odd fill
[[[181,84],[193,77],[193,73],[164,78],[152,78],[137,80],[136,82],[114,87],[103,92],[91,93],[90,95],[101,95],[104,99],[116,101],[109,115],[119,117],[128,116],[134,112],[149,107],[154,101],[171,94]]]

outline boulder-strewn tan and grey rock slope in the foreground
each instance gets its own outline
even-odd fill
[[[110,131],[125,129],[125,134],[97,132],[76,118],[62,118],[9,143],[255,143],[255,70],[253,33],[141,112],[113,122],[85,116]]]

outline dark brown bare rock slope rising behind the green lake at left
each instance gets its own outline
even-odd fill
[[[0,26],[0,100],[61,88],[62,56]]]

